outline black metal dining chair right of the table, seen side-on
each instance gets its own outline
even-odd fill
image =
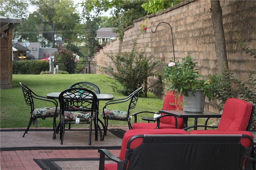
[[[140,96],[140,92],[142,87],[138,88],[134,92],[132,92],[129,96],[122,99],[115,99],[106,102],[105,106],[101,111],[101,117],[104,119],[104,135],[106,135],[108,130],[108,120],[119,120],[119,121],[127,121],[129,129],[132,129],[132,125],[130,123],[131,115],[130,110],[136,107],[138,98]],[[118,107],[118,104],[126,103],[128,104],[126,111],[121,111],[118,109],[108,109],[109,107]],[[120,106],[120,105],[119,105]],[[104,136],[103,136],[104,138]]]

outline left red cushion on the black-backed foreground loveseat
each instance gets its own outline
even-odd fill
[[[143,134],[189,134],[189,133],[182,129],[132,129],[132,130],[129,130],[124,134],[124,137],[122,140],[122,147],[119,155],[120,159],[124,160],[126,146],[128,141],[131,139],[131,137],[135,135],[143,135]],[[140,145],[142,142],[141,140],[142,139],[138,139],[137,141],[134,141],[131,145],[131,148],[135,148],[138,145]],[[117,170],[117,163],[105,164],[104,169]]]

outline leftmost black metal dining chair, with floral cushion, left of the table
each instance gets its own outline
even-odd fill
[[[37,126],[36,119],[42,118],[45,120],[47,117],[53,117],[53,131],[55,131],[56,128],[56,117],[58,117],[60,113],[60,108],[58,107],[58,102],[55,99],[48,99],[44,96],[39,96],[36,93],[34,93],[30,88],[28,88],[25,84],[19,83],[22,87],[22,92],[24,95],[24,99],[26,102],[26,105],[30,106],[30,121],[28,123],[28,127],[23,135],[25,136],[26,133],[28,133],[28,129],[30,128],[32,122],[33,124]],[[51,107],[42,107],[42,108],[36,108],[34,106],[34,101],[39,102],[40,100],[50,102],[52,104]]]

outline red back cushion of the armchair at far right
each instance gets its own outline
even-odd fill
[[[229,98],[224,105],[218,131],[245,131],[252,105],[244,100]]]

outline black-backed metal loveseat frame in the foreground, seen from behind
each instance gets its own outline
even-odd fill
[[[98,150],[99,170],[242,170],[253,141],[241,134],[135,135],[123,144],[119,158],[106,149]],[[105,156],[116,163],[105,164]]]

